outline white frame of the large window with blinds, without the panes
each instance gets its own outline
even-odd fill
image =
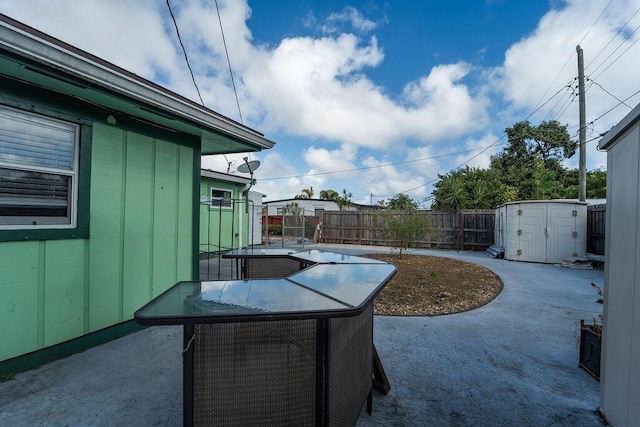
[[[71,229],[77,227],[78,222],[78,170],[79,170],[79,152],[80,152],[80,126],[76,123],[72,123],[65,120],[54,119],[49,116],[45,116],[42,114],[36,114],[25,110],[20,110],[16,108],[11,108],[6,105],[0,105],[0,110],[9,111],[14,114],[24,115],[24,116],[32,116],[36,117],[41,121],[48,121],[51,123],[63,123],[67,126],[73,127],[74,130],[74,141],[73,141],[73,160],[72,160],[72,168],[62,169],[62,168],[51,168],[45,166],[37,166],[37,165],[24,165],[20,163],[13,163],[11,161],[7,161],[6,159],[0,158],[0,167],[5,169],[11,169],[14,171],[27,171],[27,172],[41,172],[48,173],[52,175],[61,175],[69,177],[71,180],[71,185],[69,189],[69,194],[67,196],[67,203],[69,209],[69,215],[67,217],[55,217],[55,216],[25,216],[24,221],[21,221],[22,217],[10,217],[14,223],[3,224],[3,222],[9,222],[7,219],[3,220],[2,212],[0,210],[0,230],[36,230],[36,229]],[[0,129],[1,131],[1,129]],[[1,143],[1,141],[0,141]],[[2,172],[0,172],[1,174]],[[0,175],[1,177],[1,175]],[[0,205],[1,208],[1,205]],[[6,218],[6,217],[4,217]],[[64,218],[64,223],[59,223],[56,221],[56,218]],[[35,224],[34,224],[35,222]]]

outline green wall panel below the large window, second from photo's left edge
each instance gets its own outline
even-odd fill
[[[84,250],[83,240],[51,240],[45,243],[45,347],[85,332]]]

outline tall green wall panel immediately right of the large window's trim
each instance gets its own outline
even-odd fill
[[[89,328],[96,331],[122,320],[125,132],[103,125],[93,130]]]

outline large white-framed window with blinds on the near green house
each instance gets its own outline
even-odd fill
[[[79,133],[0,106],[0,229],[76,226]]]

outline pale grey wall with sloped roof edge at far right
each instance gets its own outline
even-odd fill
[[[607,150],[600,408],[616,427],[640,420],[640,104],[602,138]]]

